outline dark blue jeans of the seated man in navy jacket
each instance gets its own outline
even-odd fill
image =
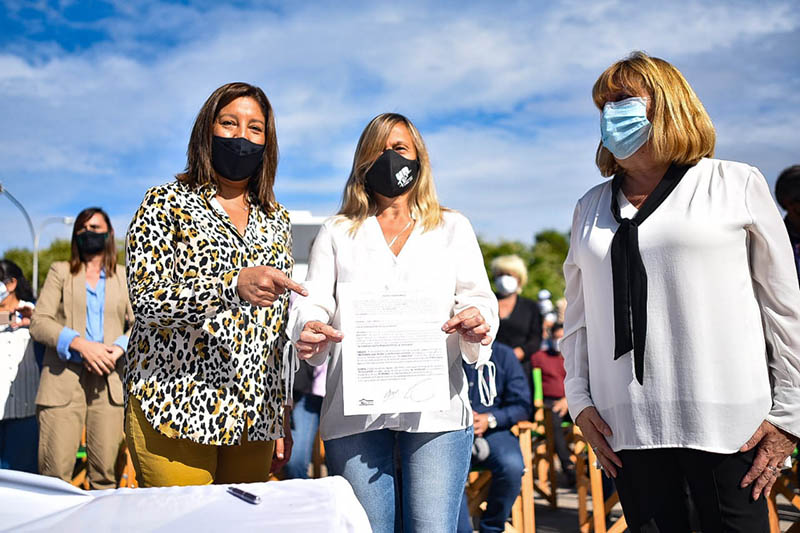
[[[522,486],[522,474],[525,465],[519,449],[519,439],[508,430],[493,431],[484,435],[489,443],[489,457],[475,466],[492,473],[489,495],[486,497],[486,512],[481,515],[481,533],[504,531],[506,520],[511,514],[514,500],[519,496]],[[458,516],[459,533],[472,532],[467,498],[461,498],[461,513]]]

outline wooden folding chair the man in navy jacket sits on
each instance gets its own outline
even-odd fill
[[[531,449],[531,431],[534,424],[528,421],[518,422],[511,432],[519,439],[522,464],[522,486],[514,505],[511,507],[511,525],[506,531],[519,533],[535,533],[536,517],[533,505],[533,452]],[[467,508],[472,517],[479,517],[486,510],[486,498],[489,494],[492,474],[488,470],[472,470],[467,478]]]

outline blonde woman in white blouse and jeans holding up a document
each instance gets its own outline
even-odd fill
[[[435,299],[448,334],[447,409],[344,415],[342,283]],[[312,365],[330,355],[320,422],[329,471],[350,482],[376,533],[395,522],[404,531],[454,531],[472,446],[461,360],[490,366],[497,300],[469,221],[439,205],[425,144],[402,115],[379,115],[362,133],[342,208],[312,248],[306,289],[289,331]]]

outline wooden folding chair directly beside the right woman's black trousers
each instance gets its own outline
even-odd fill
[[[628,527],[625,515],[620,516],[611,527],[606,527],[606,518],[611,508],[619,502],[616,492],[608,498],[603,495],[603,474],[595,466],[597,456],[583,438],[580,428],[573,426],[576,455],[575,472],[578,486],[578,528],[581,533],[622,533]],[[588,467],[588,470],[587,470]],[[586,472],[588,471],[588,476]],[[588,501],[592,500],[592,512],[589,512]],[[601,512],[602,510],[602,512]]]

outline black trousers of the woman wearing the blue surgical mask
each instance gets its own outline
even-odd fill
[[[739,483],[755,450],[731,455],[682,448],[622,450],[614,480],[631,533],[690,532],[694,504],[703,533],[768,533],[766,495]],[[688,494],[687,494],[688,488]]]

